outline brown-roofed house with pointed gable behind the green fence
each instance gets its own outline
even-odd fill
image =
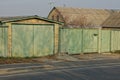
[[[65,27],[101,27],[115,10],[54,7],[48,19],[64,22]]]

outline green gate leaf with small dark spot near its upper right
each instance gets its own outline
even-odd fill
[[[83,29],[83,52],[98,52],[98,29]]]

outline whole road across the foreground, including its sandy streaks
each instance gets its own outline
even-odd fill
[[[120,80],[120,59],[0,65],[0,80]]]

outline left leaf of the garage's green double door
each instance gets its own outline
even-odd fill
[[[33,42],[33,25],[12,25],[12,57],[33,56]]]

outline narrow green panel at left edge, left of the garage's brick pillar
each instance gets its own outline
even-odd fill
[[[8,28],[0,26],[0,57],[7,57]]]

